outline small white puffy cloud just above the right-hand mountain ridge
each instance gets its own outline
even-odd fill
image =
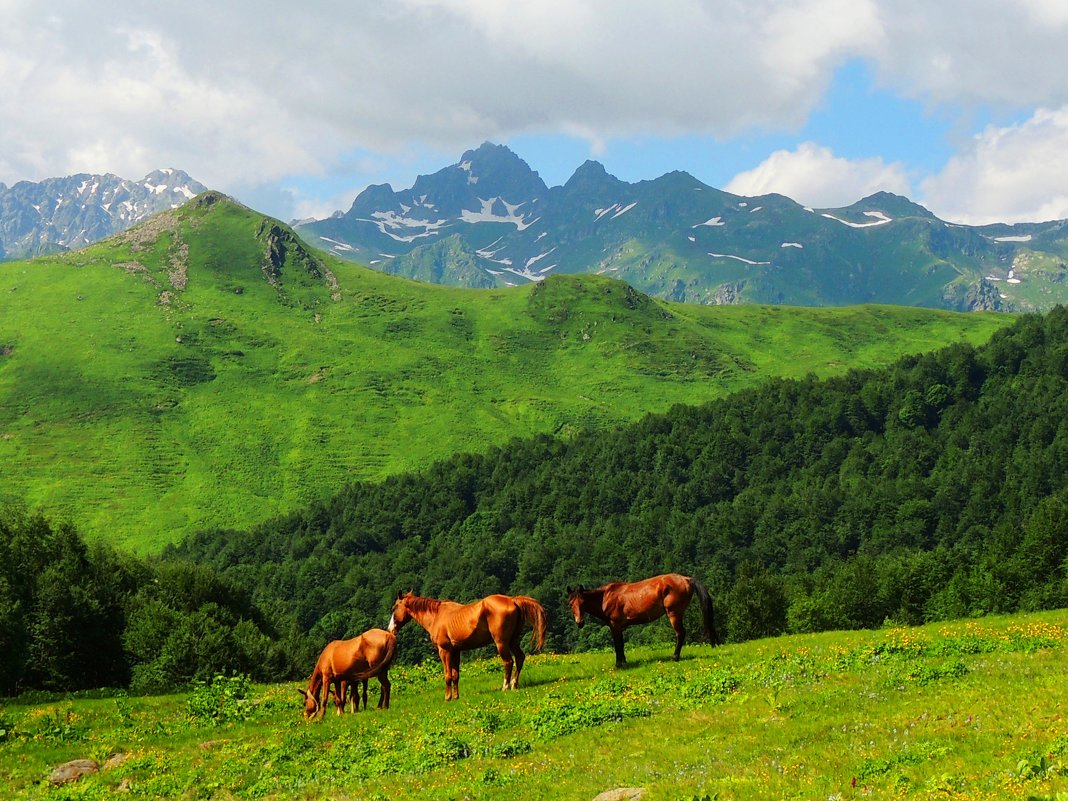
[[[881,158],[846,159],[829,148],[804,142],[795,151],[776,151],[724,187],[735,194],[779,192],[807,206],[831,208],[878,191],[908,195],[905,168]]]

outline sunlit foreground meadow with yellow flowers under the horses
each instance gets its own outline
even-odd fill
[[[608,651],[536,655],[513,693],[498,660],[469,659],[458,702],[436,663],[398,669],[390,710],[313,724],[297,682],[219,719],[202,690],[23,698],[0,704],[0,782],[12,799],[1058,799],[1066,648],[1059,611],[688,646],[679,663],[633,647],[623,671]],[[43,781],[114,752],[78,785]]]

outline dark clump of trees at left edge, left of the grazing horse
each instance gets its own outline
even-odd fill
[[[68,525],[0,511],[0,695],[278,678],[314,659],[305,647],[210,568],[88,547]]]

